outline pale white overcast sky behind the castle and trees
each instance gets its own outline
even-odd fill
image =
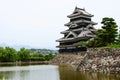
[[[76,6],[94,15],[96,29],[103,17],[120,25],[120,0],[0,0],[0,44],[57,49]]]

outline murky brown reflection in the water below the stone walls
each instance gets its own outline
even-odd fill
[[[59,67],[60,80],[120,80],[120,74],[79,72],[67,66]]]

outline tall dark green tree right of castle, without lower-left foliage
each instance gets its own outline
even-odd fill
[[[109,45],[111,43],[114,43],[116,41],[117,37],[117,24],[113,18],[105,17],[103,18],[101,24],[103,24],[103,40],[105,45]]]

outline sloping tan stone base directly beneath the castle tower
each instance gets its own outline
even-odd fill
[[[84,53],[85,54],[85,53]],[[50,61],[51,64],[60,65],[70,65],[75,70],[84,56],[75,53],[58,54],[53,60]]]

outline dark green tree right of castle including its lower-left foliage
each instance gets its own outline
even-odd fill
[[[102,29],[97,31],[95,42],[97,47],[108,46],[116,41],[117,24],[113,18],[105,17],[102,19]]]

